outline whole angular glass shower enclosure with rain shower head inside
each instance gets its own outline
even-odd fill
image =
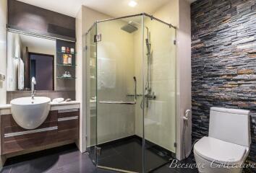
[[[176,153],[176,28],[148,14],[86,34],[87,151],[117,172],[152,172]]]

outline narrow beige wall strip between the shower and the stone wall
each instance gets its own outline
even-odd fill
[[[192,109],[191,96],[191,22],[190,22],[190,4],[186,0],[179,0],[179,26],[177,30],[177,158],[183,159],[182,152],[186,151],[189,155],[192,142],[192,117],[189,115],[188,127],[186,127],[185,136],[182,137],[184,122],[182,117],[186,110]],[[182,146],[185,140],[185,147]]]

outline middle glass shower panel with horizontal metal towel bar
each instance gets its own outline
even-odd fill
[[[135,106],[142,99],[135,96],[135,89],[142,94],[141,28],[142,16],[97,25],[98,167],[142,172],[142,138],[135,136]]]

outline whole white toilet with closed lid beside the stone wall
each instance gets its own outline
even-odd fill
[[[209,136],[201,138],[194,146],[199,172],[239,173],[249,154],[251,143],[249,111],[210,108]]]

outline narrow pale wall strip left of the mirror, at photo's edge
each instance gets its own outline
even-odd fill
[[[7,74],[7,0],[0,1],[0,74]],[[7,102],[7,86],[0,81],[0,104]]]

